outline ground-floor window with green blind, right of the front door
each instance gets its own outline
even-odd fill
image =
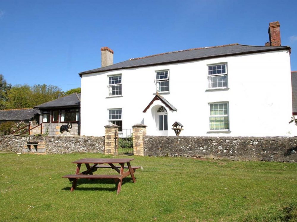
[[[209,129],[229,130],[228,103],[209,104]]]

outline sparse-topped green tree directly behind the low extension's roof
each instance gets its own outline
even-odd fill
[[[64,92],[60,87],[38,84],[31,87],[31,107],[58,99]]]

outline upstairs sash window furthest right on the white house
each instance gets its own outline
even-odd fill
[[[208,88],[228,87],[227,64],[208,66]]]

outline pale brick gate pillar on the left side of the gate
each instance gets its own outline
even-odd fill
[[[104,127],[104,154],[115,155],[115,149],[119,147],[119,126],[111,123]]]

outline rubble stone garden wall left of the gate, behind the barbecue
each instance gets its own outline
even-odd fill
[[[29,141],[46,141],[47,154],[66,154],[72,152],[104,153],[104,137],[93,136],[0,136],[0,152],[20,153]]]

